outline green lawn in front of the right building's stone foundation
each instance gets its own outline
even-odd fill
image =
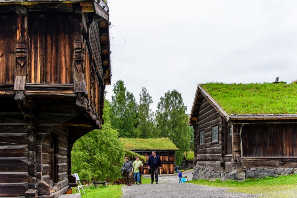
[[[261,194],[262,197],[297,197],[297,175],[246,179],[243,182],[192,180],[189,183],[212,187],[227,187],[231,192]]]

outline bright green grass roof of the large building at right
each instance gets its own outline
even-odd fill
[[[200,84],[229,114],[297,114],[297,84]]]

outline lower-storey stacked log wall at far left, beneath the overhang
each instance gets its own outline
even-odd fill
[[[23,196],[28,178],[28,134],[23,115],[0,112],[0,197]]]

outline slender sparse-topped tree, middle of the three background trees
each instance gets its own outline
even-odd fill
[[[157,138],[159,130],[154,122],[154,113],[149,108],[153,103],[151,95],[149,95],[145,87],[142,87],[139,96],[138,127],[141,132],[140,138]]]

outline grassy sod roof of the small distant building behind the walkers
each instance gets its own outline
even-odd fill
[[[127,150],[178,150],[168,138],[120,138],[120,141]]]

